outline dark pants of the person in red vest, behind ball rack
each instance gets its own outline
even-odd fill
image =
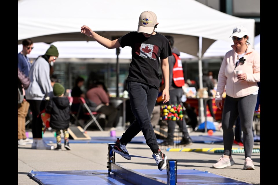
[[[180,104],[181,102],[181,98],[182,98],[182,88],[178,88],[178,89],[173,89],[173,90],[169,90],[169,94],[170,94],[170,101],[167,103],[168,105],[171,104]],[[187,131],[187,127],[186,127],[186,122],[185,119],[182,120],[178,120],[178,121],[168,121],[168,136],[167,136],[167,140],[170,143],[174,142],[174,131],[175,131],[175,123],[177,123],[180,127],[180,130],[182,131],[183,137],[186,138],[189,136],[188,131]]]

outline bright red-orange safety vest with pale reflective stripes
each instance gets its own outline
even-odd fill
[[[175,57],[175,64],[173,67],[173,80],[176,86],[182,87],[184,85],[184,75],[183,75],[183,69],[182,69],[182,60],[180,57],[172,53],[173,56]]]

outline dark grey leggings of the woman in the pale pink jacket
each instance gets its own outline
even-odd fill
[[[234,140],[233,125],[239,116],[243,132],[245,158],[251,158],[254,145],[252,126],[256,103],[257,95],[248,95],[241,98],[226,96],[222,114],[224,155],[231,156],[232,154]]]

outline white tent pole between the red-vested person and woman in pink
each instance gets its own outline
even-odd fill
[[[199,53],[198,53],[198,69],[199,69],[199,84],[200,89],[203,88],[203,72],[202,72],[202,37],[199,37]],[[204,121],[204,101],[199,99],[199,125]]]

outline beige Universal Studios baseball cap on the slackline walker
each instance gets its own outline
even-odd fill
[[[137,32],[151,34],[156,24],[157,17],[155,13],[151,11],[142,12],[139,17]]]

